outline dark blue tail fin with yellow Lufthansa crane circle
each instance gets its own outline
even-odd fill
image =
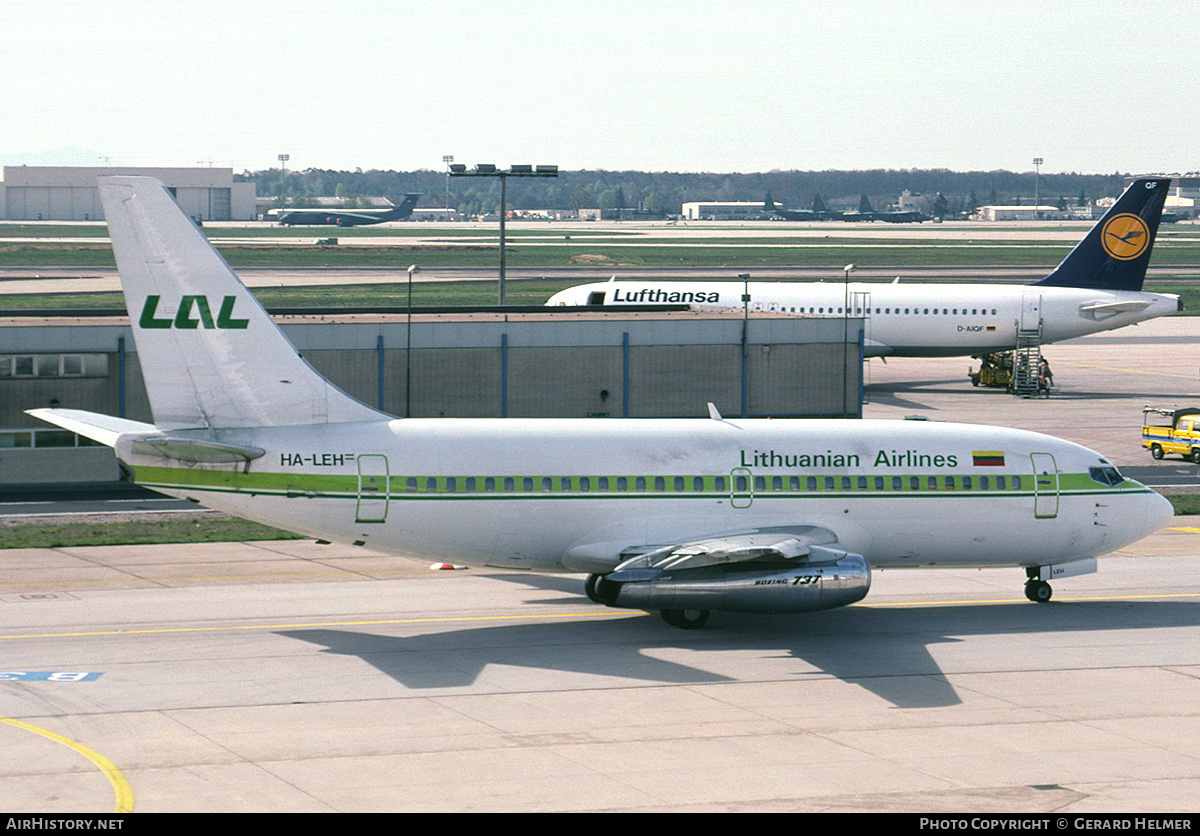
[[[1033,284],[1141,290],[1170,185],[1169,178],[1134,180],[1062,264]]]

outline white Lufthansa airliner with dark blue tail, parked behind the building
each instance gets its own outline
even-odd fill
[[[683,303],[697,309],[865,317],[863,355],[959,356],[1012,350],[1018,331],[1042,343],[1110,331],[1182,309],[1174,294],[1142,293],[1163,215],[1165,178],[1135,180],[1054,272],[1032,284],[851,282],[638,282],[582,284],[547,305]]]

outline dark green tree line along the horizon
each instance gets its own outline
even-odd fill
[[[1043,204],[1091,203],[1117,197],[1124,178],[1115,174],[1043,174],[1037,191]],[[448,178],[445,172],[338,172],[266,169],[244,172],[259,197],[274,197],[277,208],[313,205],[318,197],[338,197],[361,205],[367,197],[396,198],[420,192],[420,208],[449,206],[463,215],[496,212],[500,185],[496,178]],[[918,196],[924,211],[958,215],[980,205],[1031,205],[1033,172],[950,172],[949,169],[869,169],[827,172],[683,173],[559,172],[558,178],[511,178],[510,210],[636,209],[649,215],[676,215],[684,203],[757,202],[770,198],[786,209],[811,209],[815,202],[835,210],[858,208],[863,196],[875,209],[894,205],[904,191]]]

